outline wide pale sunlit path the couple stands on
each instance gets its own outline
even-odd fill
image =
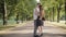
[[[15,27],[10,30],[0,32],[0,37],[33,37],[33,22],[26,23],[24,26]],[[66,33],[59,27],[45,22],[43,28],[43,37],[66,37]]]

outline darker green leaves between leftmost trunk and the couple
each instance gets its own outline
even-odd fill
[[[35,0],[6,0],[8,17],[16,16],[20,14],[20,18],[26,18],[26,15],[32,17],[33,9],[36,4]]]

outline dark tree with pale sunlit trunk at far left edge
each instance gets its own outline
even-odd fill
[[[2,14],[2,18],[3,18],[3,25],[7,25],[7,8],[6,8],[6,1],[4,0],[0,0],[0,13]]]

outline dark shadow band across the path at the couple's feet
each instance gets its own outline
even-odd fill
[[[0,35],[0,37],[33,37],[33,34],[6,34]],[[66,34],[48,34],[44,33],[43,37],[66,37]]]

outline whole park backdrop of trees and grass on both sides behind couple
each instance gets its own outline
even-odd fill
[[[62,26],[66,24],[66,0],[38,2],[43,5],[46,21],[59,23]],[[0,0],[0,30],[33,21],[33,10],[36,4],[36,0]]]

